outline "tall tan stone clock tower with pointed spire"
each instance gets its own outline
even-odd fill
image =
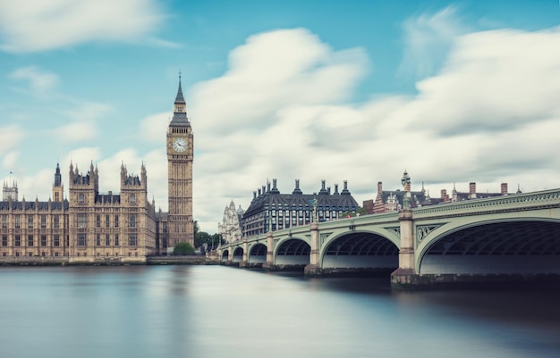
[[[180,242],[194,246],[192,220],[192,157],[194,138],[182,96],[181,75],[174,102],[173,120],[167,129],[167,250]]]

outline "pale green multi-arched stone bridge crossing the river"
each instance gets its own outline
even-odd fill
[[[306,275],[391,271],[393,287],[560,278],[560,189],[314,222],[218,248],[221,262]]]

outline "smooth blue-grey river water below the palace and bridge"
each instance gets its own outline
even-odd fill
[[[556,284],[557,285],[557,284]],[[394,292],[223,266],[0,268],[3,357],[558,357],[560,288]]]

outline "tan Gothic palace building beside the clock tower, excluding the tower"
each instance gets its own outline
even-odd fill
[[[98,169],[86,174],[70,164],[69,196],[60,168],[47,202],[0,202],[0,255],[68,257],[69,262],[145,262],[157,254],[154,204],[147,199],[147,172],[121,167],[121,194],[99,194]]]

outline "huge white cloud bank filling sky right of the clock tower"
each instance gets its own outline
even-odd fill
[[[414,189],[425,181],[432,196],[454,182],[466,191],[477,181],[480,192],[499,192],[502,181],[510,191],[524,182],[532,190],[558,187],[559,29],[456,37],[443,69],[418,83],[417,96],[361,105],[344,100],[364,66],[344,79],[329,71],[366,63],[361,52],[324,62],[336,53],[292,31],[251,37],[232,52],[223,77],[194,88],[194,211],[202,229],[216,230],[232,199],[247,208],[252,191],[273,178],[283,193],[292,192],[293,179],[306,193],[318,191],[320,179],[339,189],[347,179],[359,203],[374,197],[378,180],[399,188],[405,169]],[[271,73],[267,63],[282,67],[273,38],[278,51],[310,47],[315,57],[294,54],[283,60],[288,70]]]

